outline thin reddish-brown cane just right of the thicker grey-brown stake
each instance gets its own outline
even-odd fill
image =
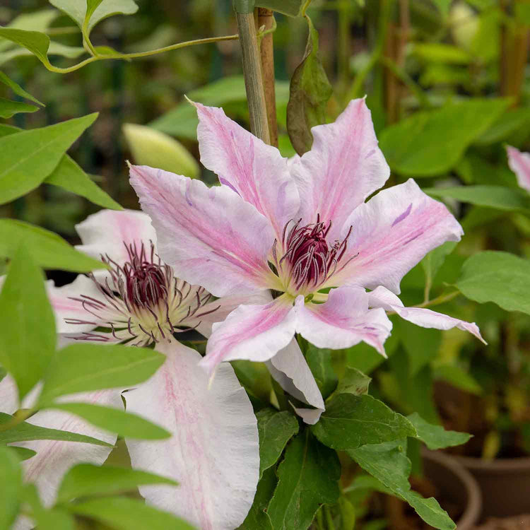
[[[258,8],[258,26],[264,30],[274,27],[274,14],[271,9]],[[276,92],[274,83],[274,47],[273,33],[267,33],[261,39],[261,71],[263,72],[265,105],[267,107],[267,122],[269,122],[269,136],[271,146],[278,147],[278,119],[276,117]]]

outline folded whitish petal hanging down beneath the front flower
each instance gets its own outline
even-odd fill
[[[324,399],[295,338],[267,361],[272,377],[291,396],[315,408],[295,408],[305,423],[314,425],[326,410]]]

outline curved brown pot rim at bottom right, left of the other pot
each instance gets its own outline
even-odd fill
[[[440,497],[463,508],[457,530],[471,530],[481,516],[481,490],[471,473],[454,457],[441,452],[423,451],[423,473],[435,484]]]

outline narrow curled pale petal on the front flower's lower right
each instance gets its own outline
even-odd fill
[[[408,320],[408,322],[412,322],[417,326],[435,329],[458,328],[462,331],[469,331],[479,341],[486,343],[475,322],[455,319],[447,314],[437,313],[423,307],[404,307],[403,302],[394,293],[382,286],[368,293],[368,297],[370,307],[382,307],[386,311],[394,311],[402,319]]]

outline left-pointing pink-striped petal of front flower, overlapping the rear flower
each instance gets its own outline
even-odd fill
[[[158,252],[177,277],[215,296],[252,293],[268,286],[274,241],[269,223],[226,186],[148,166],[131,166],[131,184],[153,220]]]

